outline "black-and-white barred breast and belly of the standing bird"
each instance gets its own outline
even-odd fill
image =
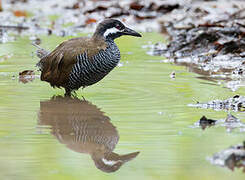
[[[68,89],[77,90],[80,87],[92,85],[104,78],[120,61],[120,51],[113,40],[107,40],[108,47],[89,58],[87,53],[77,56],[69,76]]]

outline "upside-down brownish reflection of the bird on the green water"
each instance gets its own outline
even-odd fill
[[[40,102],[39,124],[50,125],[51,133],[69,149],[90,154],[96,167],[104,172],[117,171],[139,154],[112,152],[119,140],[115,126],[85,100],[55,97]]]

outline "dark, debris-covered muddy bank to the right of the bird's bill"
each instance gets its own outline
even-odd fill
[[[151,55],[167,57],[200,78],[222,83],[235,91],[244,86],[245,2],[195,1],[159,19],[166,45],[150,45]]]

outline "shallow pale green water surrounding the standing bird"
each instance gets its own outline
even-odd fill
[[[232,92],[185,67],[162,63],[162,57],[141,48],[149,39],[154,43],[163,37],[117,40],[121,66],[78,91],[79,100],[52,99],[63,90],[38,78],[19,82],[18,73],[34,69],[37,61],[28,38],[1,44],[0,57],[12,55],[0,62],[1,179],[243,179],[241,170],[216,167],[207,158],[241,143],[244,132],[227,132],[223,126],[193,128],[203,115],[224,119],[227,112],[187,105],[244,95],[244,88]],[[52,49],[64,39],[42,40],[42,47]],[[241,112],[232,114],[245,118]],[[92,141],[94,136],[101,139]],[[138,151],[110,174],[91,155],[113,164],[116,160],[105,160],[108,153]]]

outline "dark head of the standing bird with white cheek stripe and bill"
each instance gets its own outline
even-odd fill
[[[102,36],[105,39],[116,39],[123,35],[141,37],[136,31],[124,26],[123,23],[116,19],[106,19],[99,23],[94,36]]]

